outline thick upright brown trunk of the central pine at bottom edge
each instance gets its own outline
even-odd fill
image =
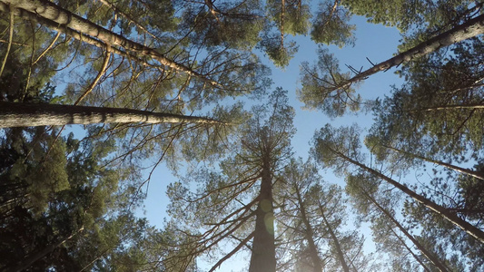
[[[262,166],[261,192],[255,211],[255,230],[249,272],[275,272],[274,212],[272,207],[272,173],[266,159]]]

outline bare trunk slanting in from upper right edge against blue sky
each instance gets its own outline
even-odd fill
[[[430,38],[429,40],[420,43],[403,53],[399,53],[398,55],[390,58],[389,60],[373,65],[373,67],[371,67],[370,69],[358,73],[351,79],[344,81],[339,86],[334,87],[334,90],[340,88],[347,88],[351,85],[351,83],[356,83],[364,80],[374,73],[386,71],[393,66],[400,65],[401,63],[408,63],[413,59],[420,58],[421,56],[435,52],[442,47],[449,46],[450,44],[459,43],[460,41],[464,41],[466,39],[483,33],[484,15],[479,15],[464,24],[460,24],[459,26],[456,26],[449,31]]]

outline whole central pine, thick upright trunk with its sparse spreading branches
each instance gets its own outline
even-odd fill
[[[285,92],[278,89],[269,98],[271,108],[254,106],[252,118],[230,143],[231,152],[218,170],[200,170],[193,176],[201,182],[196,193],[182,183],[171,186],[169,212],[178,233],[190,233],[193,238],[193,243],[177,246],[190,252],[178,257],[180,262],[187,264],[208,254],[222,242],[234,243],[237,250],[219,257],[211,270],[247,245],[252,251],[250,271],[275,271],[273,186],[276,172],[291,155],[294,133],[294,113],[287,102]]]

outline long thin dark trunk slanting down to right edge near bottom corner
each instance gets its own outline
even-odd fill
[[[330,148],[330,150],[331,150],[331,148]],[[420,194],[414,192],[413,190],[409,189],[408,187],[406,187],[404,185],[401,185],[398,181],[392,180],[389,177],[381,174],[379,171],[373,170],[373,169],[367,167],[366,165],[361,164],[360,162],[358,162],[356,160],[351,160],[351,158],[345,156],[344,154],[342,154],[339,151],[334,151],[334,150],[331,150],[331,151],[334,152],[335,154],[338,154],[342,159],[347,160],[347,161],[351,162],[352,164],[360,167],[362,170],[365,170],[365,171],[369,172],[370,174],[372,174],[376,177],[379,177],[381,180],[387,181],[391,185],[400,189],[402,192],[406,193],[408,196],[410,196],[410,198],[417,200],[418,202],[420,202],[425,207],[437,212],[444,219],[447,219],[450,223],[452,223],[455,226],[461,228],[462,230],[467,232],[470,236],[472,236],[473,238],[477,238],[479,240],[479,242],[484,244],[484,232],[482,230],[480,230],[479,228],[472,226],[471,224],[469,224],[469,222],[467,222],[463,219],[460,219],[455,213],[450,212],[448,209],[443,208],[439,204],[431,201],[430,199],[426,199],[426,198],[422,197]]]

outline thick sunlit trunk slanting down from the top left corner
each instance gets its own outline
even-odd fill
[[[166,58],[162,53],[158,53],[153,48],[136,43],[120,34],[115,34],[114,32],[109,31],[98,24],[94,24],[93,22],[86,20],[79,15],[74,15],[70,11],[55,5],[48,0],[0,0],[0,2],[10,5],[11,7],[21,8],[29,13],[43,17],[44,19],[50,20],[56,24],[60,24],[63,27],[70,28],[79,33],[87,34],[103,41],[105,44],[107,44],[106,46],[117,45],[123,47],[127,51],[152,57],[165,66],[199,77],[203,81],[211,83],[212,86],[221,87],[219,83],[206,78],[201,73],[193,71],[191,68],[183,65],[182,63],[176,63],[173,60]]]

